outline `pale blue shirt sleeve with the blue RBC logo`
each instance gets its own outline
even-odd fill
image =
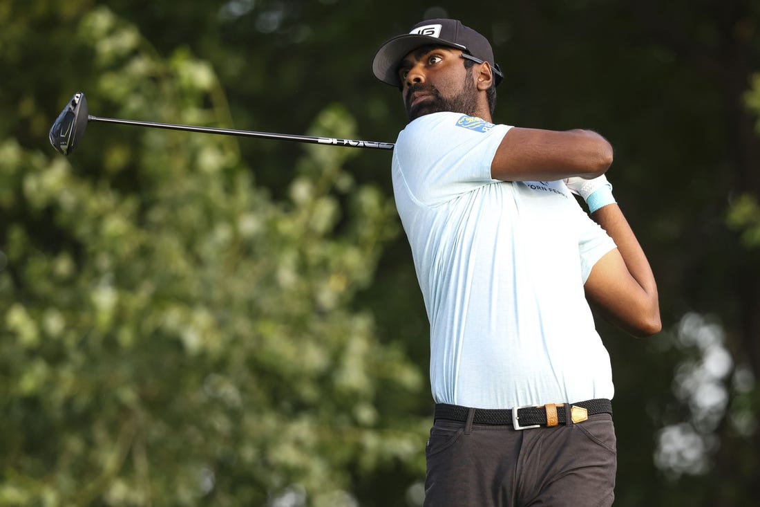
[[[460,113],[422,116],[399,134],[394,171],[413,199],[437,206],[497,181],[491,162],[510,128]]]

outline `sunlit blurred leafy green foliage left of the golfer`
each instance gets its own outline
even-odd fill
[[[59,14],[16,9],[27,30]],[[227,120],[206,62],[106,8],[70,14],[50,36],[87,55],[91,109]],[[4,33],[9,59],[26,38]],[[21,122],[44,139],[31,93]],[[337,106],[313,128],[355,134]],[[385,410],[423,377],[352,307],[394,207],[351,151],[298,151],[274,200],[230,138],[91,124],[68,159],[0,143],[0,505],[353,505],[378,470],[420,476],[427,421]]]

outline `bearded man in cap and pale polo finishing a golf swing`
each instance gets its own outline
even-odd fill
[[[492,123],[502,72],[460,21],[416,24],[372,70],[409,116],[392,172],[430,321],[425,505],[611,505],[613,381],[590,305],[635,336],[661,327],[603,175],[612,147]]]

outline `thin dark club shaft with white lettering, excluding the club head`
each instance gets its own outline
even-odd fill
[[[141,122],[137,120],[120,120],[119,118],[103,118],[88,115],[87,121],[101,123],[118,123],[119,125],[144,126],[150,129],[183,130],[185,132],[201,132],[204,134],[219,134],[222,136],[255,137],[258,139],[275,139],[280,141],[308,142],[315,145],[347,146],[349,148],[372,148],[380,150],[392,150],[392,142],[356,141],[353,139],[334,139],[316,136],[295,136],[293,134],[277,134],[272,132],[254,132],[251,130],[217,129],[214,127],[202,127],[192,125],[177,125],[175,123]]]

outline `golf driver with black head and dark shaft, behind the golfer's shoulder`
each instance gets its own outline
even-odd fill
[[[119,120],[118,118],[100,118],[92,116],[87,110],[87,99],[81,91],[74,94],[63,108],[61,114],[50,127],[50,144],[62,155],[70,155],[84,136],[88,122],[118,123],[120,125],[144,126],[151,129],[185,130],[187,132],[202,132],[205,134],[220,134],[223,136],[255,137],[259,139],[280,139],[280,141],[308,142],[316,145],[347,146],[349,148],[374,148],[392,150],[392,142],[355,141],[353,139],[334,139],[330,137],[293,136],[290,134],[274,134],[270,132],[252,132],[250,130],[216,129],[191,125],[176,125],[173,123],[153,123],[135,120]]]

